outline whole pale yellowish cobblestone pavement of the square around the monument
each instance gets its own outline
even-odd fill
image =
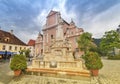
[[[104,67],[98,77],[89,80],[73,80],[64,78],[22,75],[14,77],[8,63],[0,64],[0,84],[120,84],[120,60],[102,59]],[[7,69],[7,70],[6,70]]]

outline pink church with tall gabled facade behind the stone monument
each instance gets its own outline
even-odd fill
[[[41,55],[46,49],[49,49],[53,40],[58,38],[59,27],[62,29],[62,34],[60,33],[61,37],[71,42],[72,51],[78,51],[77,38],[84,32],[83,29],[76,27],[73,21],[67,23],[61,18],[60,12],[50,11],[46,24],[43,27],[43,35],[39,35],[36,40],[36,55]],[[79,54],[81,54],[80,51]]]

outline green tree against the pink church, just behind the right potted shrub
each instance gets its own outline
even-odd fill
[[[80,50],[84,51],[85,53],[87,51],[90,51],[91,48],[95,47],[95,44],[92,42],[92,34],[88,32],[85,32],[82,35],[80,35],[77,42]]]

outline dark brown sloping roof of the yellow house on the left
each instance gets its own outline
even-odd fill
[[[24,45],[19,38],[17,38],[13,33],[0,30],[0,43],[14,44],[14,45]]]

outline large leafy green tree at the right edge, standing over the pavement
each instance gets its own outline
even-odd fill
[[[114,30],[105,32],[100,42],[100,49],[103,55],[114,53],[114,48],[120,48],[120,34]]]

